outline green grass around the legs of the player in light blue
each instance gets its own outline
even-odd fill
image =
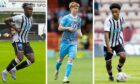
[[[48,59],[48,84],[62,84],[62,80],[65,75],[67,58],[65,58],[60,68],[58,80],[54,80],[56,60],[56,58]],[[70,84],[92,84],[92,59],[75,59],[69,80]]]

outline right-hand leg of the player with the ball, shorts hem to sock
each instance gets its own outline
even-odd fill
[[[122,72],[122,67],[123,67],[123,65],[125,63],[125,60],[126,60],[125,50],[124,50],[122,45],[117,46],[116,53],[120,57],[119,58],[119,63],[118,63],[118,66],[117,66],[117,70],[118,70],[118,72]]]

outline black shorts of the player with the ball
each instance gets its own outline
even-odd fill
[[[124,49],[124,47],[123,47],[122,44],[117,45],[117,46],[115,46],[115,47],[111,47],[111,48],[112,48],[113,52],[114,52],[114,51],[116,52],[117,55],[118,55],[120,52],[125,52],[125,49]],[[109,60],[109,59],[111,59],[112,56],[113,56],[113,54],[111,54],[111,53],[109,53],[109,52],[107,51],[107,47],[105,47],[105,46],[104,46],[104,56],[105,56],[105,60]]]

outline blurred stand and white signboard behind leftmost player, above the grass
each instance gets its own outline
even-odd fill
[[[0,0],[0,40],[9,40],[5,34],[10,34],[4,19],[17,14],[22,14],[22,4],[24,2],[32,3],[34,8],[33,27],[31,28],[30,40],[45,40],[45,7],[44,0]]]

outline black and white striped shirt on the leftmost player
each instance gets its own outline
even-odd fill
[[[28,18],[24,14],[16,15],[12,17],[12,20],[15,23],[15,26],[17,28],[21,28],[20,33],[15,33],[13,35],[13,42],[22,42],[27,43],[28,42],[28,34],[32,27],[32,18]]]

